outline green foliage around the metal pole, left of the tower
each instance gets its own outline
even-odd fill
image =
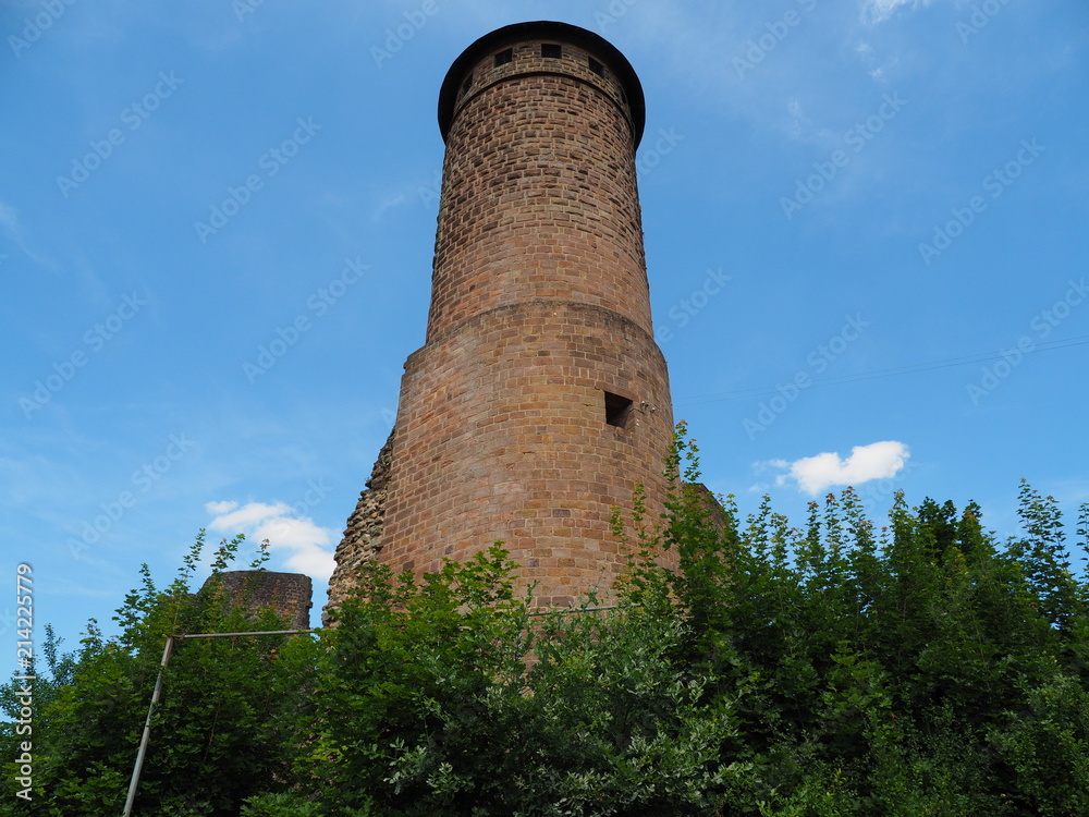
[[[213,577],[241,541],[220,545]],[[9,765],[0,814],[118,817],[167,636],[285,629],[271,610],[252,613],[232,605],[215,583],[199,593],[189,587],[204,546],[201,532],[163,589],[147,565],[142,569],[140,587],[114,615],[120,635],[103,637],[91,621],[76,653],[58,655],[56,639],[46,642],[50,672],[35,682],[32,800],[15,797]],[[262,551],[253,566],[265,558]],[[285,788],[302,740],[295,714],[308,692],[315,651],[307,636],[175,642],[134,814],[233,817],[244,798]],[[12,682],[4,690],[9,715],[16,687]],[[16,737],[5,724],[5,761],[16,756]]]

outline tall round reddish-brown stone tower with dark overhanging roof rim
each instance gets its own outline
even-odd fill
[[[502,540],[539,603],[567,605],[616,575],[611,508],[631,508],[636,481],[661,510],[673,417],[636,187],[644,121],[631,64],[583,28],[506,26],[454,61],[426,342],[332,603],[375,553],[424,573]]]

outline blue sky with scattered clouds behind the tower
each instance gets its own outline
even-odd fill
[[[847,483],[974,499],[1002,536],[1021,477],[1089,500],[1080,0],[9,0],[2,548],[39,625],[73,646],[201,527],[269,536],[317,612],[424,340],[439,85],[540,19],[644,83],[656,329],[713,490],[796,523]]]

